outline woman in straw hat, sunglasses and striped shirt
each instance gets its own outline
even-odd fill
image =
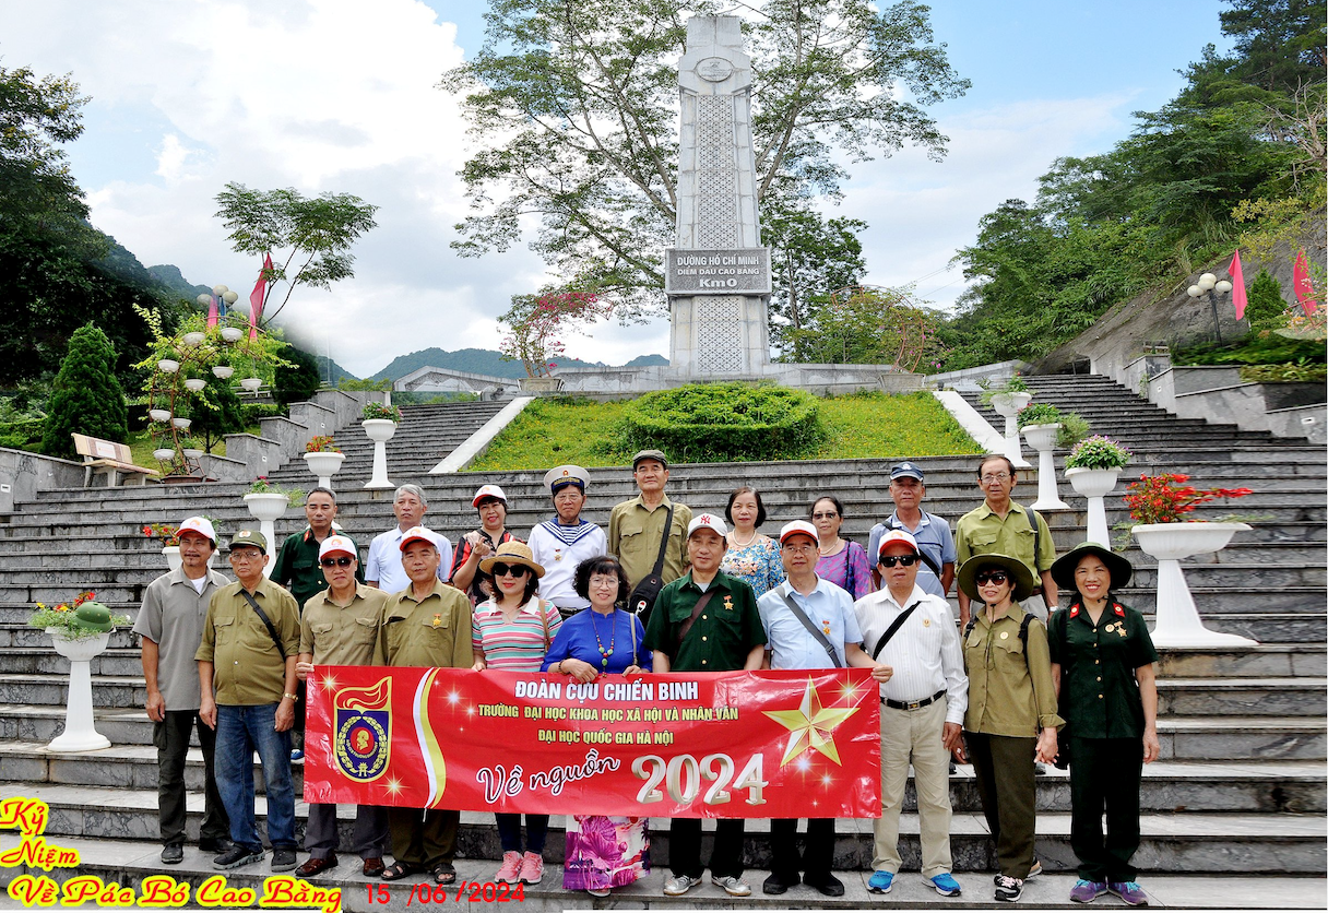
[[[475,606],[471,621],[475,671],[539,671],[563,617],[539,598],[544,568],[534,561],[530,547],[506,541],[479,563],[491,575],[494,595]],[[495,881],[538,884],[544,877],[544,836],[548,815],[526,815],[526,848],[521,845],[521,815],[495,813],[502,867]]]

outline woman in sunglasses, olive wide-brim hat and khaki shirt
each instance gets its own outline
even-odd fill
[[[1028,565],[1009,555],[975,555],[959,569],[959,588],[983,606],[963,637],[964,742],[996,843],[996,900],[1012,904],[1024,881],[1042,871],[1033,857],[1033,764],[1056,756],[1056,730],[1065,721],[1056,713],[1046,628],[1019,605],[1033,592]]]

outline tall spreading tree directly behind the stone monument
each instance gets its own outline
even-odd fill
[[[444,76],[477,137],[462,167],[471,215],[453,243],[478,256],[517,243],[620,316],[659,311],[661,248],[677,206],[677,72],[688,15],[710,0],[494,0],[483,46]],[[946,137],[927,106],[968,88],[900,0],[766,0],[744,25],[753,60],[758,204],[838,194],[841,159]]]

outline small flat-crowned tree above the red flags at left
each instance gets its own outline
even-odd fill
[[[216,218],[230,230],[232,249],[272,257],[272,268],[264,269],[264,322],[282,313],[297,285],[332,288],[332,283],[353,276],[351,244],[377,224],[373,214],[378,211],[351,194],[307,198],[291,187],[263,191],[238,183],[226,184],[216,203]],[[278,283],[286,283],[286,296],[268,312]]]

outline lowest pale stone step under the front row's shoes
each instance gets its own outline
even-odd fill
[[[343,823],[343,831],[344,828]],[[841,828],[843,824],[841,823]],[[667,828],[665,828],[667,831]],[[552,836],[552,835],[551,835]],[[560,839],[560,835],[559,835]],[[641,880],[625,888],[615,888],[612,901],[606,902],[590,897],[584,893],[572,893],[562,889],[562,867],[555,861],[560,859],[551,849],[546,852],[547,867],[544,878],[538,885],[525,885],[521,889],[521,909],[526,910],[562,910],[562,909],[592,909],[592,908],[635,908],[635,909],[714,909],[730,910],[738,904],[742,908],[780,910],[780,909],[866,909],[880,905],[879,894],[867,892],[867,878],[871,873],[858,868],[851,871],[837,871],[837,877],[843,881],[845,896],[838,898],[822,897],[814,889],[798,885],[789,889],[781,897],[764,897],[761,882],[769,875],[765,869],[749,868],[744,878],[752,885],[752,897],[734,902],[720,888],[703,882],[693,888],[684,897],[664,897],[664,880],[668,877],[668,867],[664,864],[667,855],[663,845],[668,835],[656,833],[651,836],[651,855],[655,859],[653,871]],[[906,837],[904,840],[911,840]],[[1040,841],[1038,851],[1048,848],[1049,841]],[[82,864],[78,867],[80,875],[94,875],[105,882],[129,886],[135,892],[142,890],[145,878],[162,875],[162,865],[158,860],[159,848],[145,841],[133,840],[96,840],[84,837],[66,837],[64,844],[78,852]],[[343,847],[349,843],[343,837]],[[963,900],[954,897],[939,897],[930,885],[926,885],[916,873],[916,853],[912,844],[907,844],[904,864],[910,867],[895,878],[890,892],[890,906],[903,909],[954,910],[969,908],[995,908],[991,901],[992,885],[988,872],[959,872],[957,880],[963,888]],[[303,853],[300,855],[303,860]],[[703,856],[704,859],[704,856]],[[385,882],[377,878],[368,880],[360,875],[357,859],[349,851],[343,852],[341,863],[337,868],[313,878],[312,884],[328,892],[339,892],[339,902],[347,913],[404,913],[404,910],[420,906],[424,902],[412,892],[417,890],[417,881],[422,876],[406,878],[398,882]],[[461,885],[466,885],[461,894],[467,902],[474,894],[471,905],[482,902],[485,885],[493,884],[495,865],[487,860],[457,860],[457,878]],[[211,868],[211,855],[203,855],[193,845],[185,848],[185,860],[179,865],[169,869],[170,877],[179,882],[191,885],[191,897],[197,889],[208,878],[216,876]],[[234,869],[226,873],[226,884],[235,889],[252,890],[255,897],[260,897],[264,890],[264,881],[271,875],[270,863],[256,863]],[[11,876],[12,877],[12,876]],[[0,884],[5,876],[0,873]],[[1019,901],[1027,909],[1062,909],[1068,905],[1070,888],[1074,885],[1073,873],[1053,873],[1029,881],[1024,888],[1024,896]],[[1295,877],[1242,873],[1230,875],[1154,875],[1149,873],[1143,878],[1143,886],[1149,893],[1153,906],[1166,906],[1174,909],[1313,909],[1321,905],[1325,882],[1320,877]],[[446,898],[442,897],[446,893]],[[490,898],[495,897],[495,889],[489,889]],[[450,892],[430,892],[428,902],[457,904],[458,889]],[[437,898],[437,900],[436,900]],[[1110,898],[1098,901],[1098,905],[1112,904]],[[459,904],[458,904],[459,906]]]

